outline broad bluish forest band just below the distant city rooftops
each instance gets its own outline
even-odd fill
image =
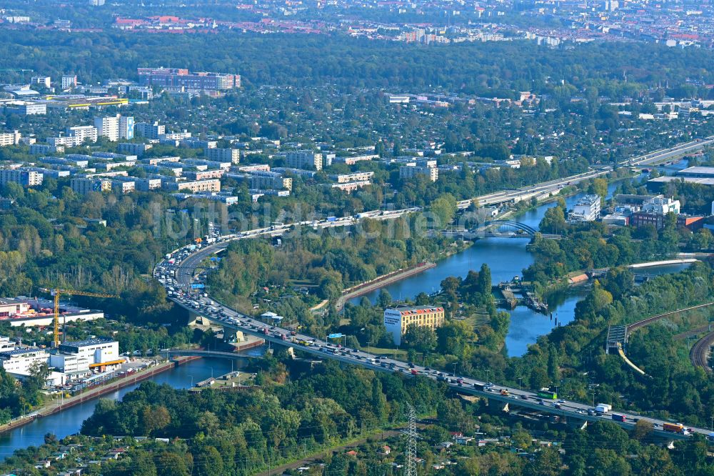
[[[76,54],[83,51],[83,54]],[[74,72],[84,81],[136,79],[137,66],[173,66],[241,74],[246,84],[341,84],[350,88],[431,89],[468,94],[494,89],[534,91],[570,98],[586,86],[600,94],[635,96],[645,85],[676,85],[681,97],[714,83],[706,49],[656,44],[582,44],[550,49],[526,41],[415,46],[356,40],[339,35],[164,35],[109,31],[83,33],[0,31],[0,60],[57,76]],[[270,58],[270,61],[265,61]],[[71,71],[68,71],[68,66]],[[440,67],[433,67],[438,64]],[[633,66],[638,65],[638,66]],[[627,75],[625,81],[623,74]],[[613,79],[617,79],[613,81]],[[714,94],[703,89],[701,96]]]

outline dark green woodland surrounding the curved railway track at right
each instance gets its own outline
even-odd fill
[[[628,356],[650,377],[635,375],[617,354],[605,354],[603,346],[609,325],[708,302],[714,295],[713,282],[712,269],[705,263],[640,286],[633,285],[627,269],[615,269],[578,303],[573,322],[539,337],[523,359],[512,360],[503,377],[521,377],[532,388],[558,385],[560,395],[583,402],[592,401],[595,394],[598,401],[619,408],[708,427],[714,415],[714,384],[691,365],[688,343],[673,339],[683,329],[700,326],[702,319],[706,323],[707,311],[696,319],[696,313],[688,314],[679,329],[673,317],[633,335]]]

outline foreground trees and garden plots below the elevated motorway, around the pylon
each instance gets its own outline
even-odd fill
[[[81,435],[62,441],[47,435],[44,445],[19,450],[0,470],[44,475],[79,465],[91,476],[248,476],[332,448],[302,462],[308,467],[302,474],[396,476],[403,471],[406,439],[386,431],[380,440],[373,430],[401,427],[408,405],[430,416],[417,427],[416,457],[425,476],[571,476],[603,468],[622,476],[678,476],[713,470],[700,436],[668,450],[645,425],[627,432],[603,421],[573,430],[550,417],[523,420],[486,400],[459,398],[424,377],[330,361],[308,368],[281,356],[261,366],[262,386],[252,390],[194,393],[147,382],[122,402],[101,400]],[[370,434],[376,440],[343,447]],[[67,457],[54,458],[63,452]],[[34,470],[45,460],[48,467]]]

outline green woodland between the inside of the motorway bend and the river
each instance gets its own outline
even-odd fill
[[[321,299],[335,304],[348,287],[436,261],[448,250],[466,246],[428,237],[426,223],[421,214],[411,214],[324,230],[298,227],[283,236],[278,247],[263,239],[238,240],[228,246],[218,269],[208,275],[208,286],[228,305],[239,309],[251,309],[253,302],[269,306],[321,335],[318,329],[336,324],[338,317],[331,312],[320,320],[308,312],[310,305]]]

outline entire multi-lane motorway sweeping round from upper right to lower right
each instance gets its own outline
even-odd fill
[[[666,149],[638,157],[630,162],[630,164],[658,162],[660,160],[667,159],[668,157],[674,157],[685,152],[690,152],[712,143],[714,143],[714,137],[708,137],[704,140],[682,144],[678,147],[673,147],[672,149]],[[610,172],[610,168],[603,167],[603,169],[587,172],[585,174],[579,174],[574,177],[568,177],[567,179],[536,184],[533,187],[524,187],[523,189],[519,189],[517,191],[489,194],[483,197],[478,197],[478,200],[481,204],[501,203],[508,201],[508,199],[523,197],[526,194],[531,194],[531,196],[533,196],[533,194],[549,193],[564,186],[565,184],[577,183],[581,180],[598,177],[608,172]],[[504,199],[504,197],[511,198]],[[466,208],[470,202],[471,201],[461,202],[459,207]],[[299,224],[314,228],[342,227],[351,225],[364,218],[393,219],[401,217],[403,214],[418,212],[419,210],[419,208],[411,208],[388,212],[366,212],[359,214],[356,217],[315,220],[310,222],[301,222]],[[488,397],[488,399],[492,402],[503,405],[504,407],[507,404],[516,405],[518,407],[525,407],[538,412],[560,415],[562,417],[573,417],[578,420],[588,420],[590,422],[608,420],[625,428],[632,428],[638,420],[645,420],[652,423],[654,432],[663,437],[683,439],[687,438],[690,433],[696,432],[707,435],[710,440],[714,440],[714,434],[704,428],[690,427],[683,432],[665,431],[663,429],[663,425],[667,422],[663,420],[643,417],[641,415],[634,415],[627,412],[620,412],[618,410],[613,410],[613,412],[606,412],[604,414],[598,413],[595,412],[592,405],[563,399],[544,399],[542,397],[538,397],[538,392],[533,392],[531,390],[521,390],[520,388],[516,389],[514,387],[506,387],[503,385],[493,385],[491,382],[482,382],[470,377],[459,377],[453,374],[446,374],[444,372],[429,369],[428,367],[413,365],[399,360],[393,360],[388,357],[377,357],[363,350],[340,347],[331,342],[316,339],[315,337],[306,334],[274,326],[272,323],[261,322],[257,319],[253,319],[245,314],[237,312],[235,309],[231,309],[219,302],[216,302],[206,293],[198,293],[195,290],[191,290],[191,284],[193,284],[196,279],[196,272],[199,265],[201,265],[201,262],[203,262],[206,258],[211,257],[213,254],[226,249],[229,242],[236,239],[282,234],[291,229],[291,227],[293,227],[293,224],[282,224],[273,227],[248,230],[246,232],[226,236],[218,236],[218,232],[212,231],[211,237],[209,238],[211,241],[216,240],[215,243],[208,244],[204,247],[198,247],[196,250],[192,250],[190,246],[186,246],[167,254],[166,259],[161,261],[154,269],[154,277],[159,279],[164,287],[166,287],[170,299],[182,307],[185,307],[189,311],[201,314],[201,316],[206,319],[219,323],[228,329],[247,332],[248,334],[255,334],[268,341],[293,347],[303,352],[307,352],[308,354],[316,354],[321,357],[338,360],[345,364],[361,365],[363,367],[381,370],[384,372],[401,372],[409,376],[421,375],[433,380],[440,380],[456,392]],[[616,415],[615,418],[613,418],[613,414]]]

